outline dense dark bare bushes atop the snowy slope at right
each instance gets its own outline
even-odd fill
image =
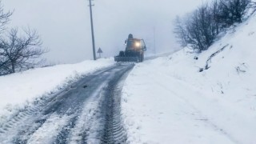
[[[211,46],[220,31],[242,22],[251,0],[214,0],[194,10],[189,17],[176,19],[174,33],[182,46],[190,45],[201,52]]]

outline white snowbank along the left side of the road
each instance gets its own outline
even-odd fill
[[[0,77],[0,122],[15,110],[43,95],[53,94],[70,82],[106,66],[114,65],[113,58],[85,61],[78,64],[49,66]]]

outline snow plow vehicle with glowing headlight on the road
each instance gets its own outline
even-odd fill
[[[146,45],[143,39],[134,38],[129,34],[125,42],[126,50],[120,51],[118,56],[114,57],[115,62],[143,62]]]

